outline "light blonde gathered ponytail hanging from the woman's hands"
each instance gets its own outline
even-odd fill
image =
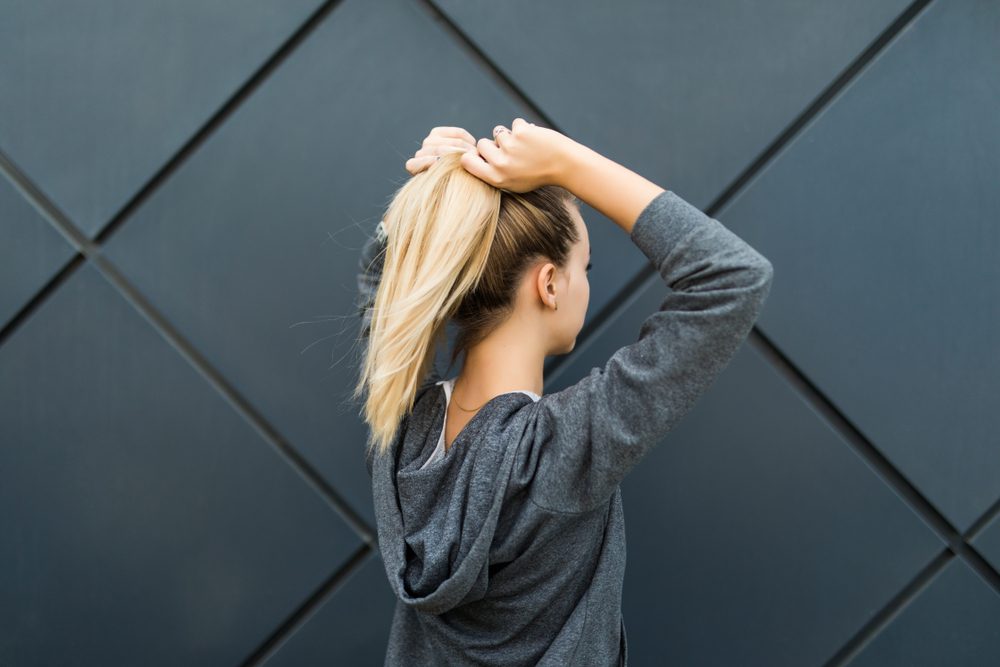
[[[395,194],[385,214],[382,278],[357,398],[367,389],[369,449],[384,454],[434,363],[445,325],[483,275],[496,234],[500,190],[443,155]]]

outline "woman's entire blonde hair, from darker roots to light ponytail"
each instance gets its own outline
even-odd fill
[[[567,210],[568,190],[500,190],[473,176],[447,153],[393,195],[371,325],[354,398],[367,392],[362,417],[367,447],[385,454],[434,364],[445,327],[459,328],[451,353],[483,340],[514,310],[524,271],[547,258],[566,266],[579,231]],[[378,261],[376,259],[376,261]],[[365,336],[367,333],[367,336]]]

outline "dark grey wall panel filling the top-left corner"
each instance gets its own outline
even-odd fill
[[[93,236],[318,5],[4,3],[0,146]]]

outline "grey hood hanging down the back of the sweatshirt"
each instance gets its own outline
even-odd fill
[[[481,598],[490,547],[533,399],[495,396],[444,458],[421,466],[441,436],[447,396],[439,382],[418,394],[384,456],[369,459],[379,550],[396,596],[433,614]]]

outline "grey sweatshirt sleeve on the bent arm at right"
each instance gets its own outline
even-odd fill
[[[636,342],[538,401],[531,499],[551,511],[611,497],[726,367],[770,291],[771,263],[671,190],[650,201],[629,237],[669,290]]]

